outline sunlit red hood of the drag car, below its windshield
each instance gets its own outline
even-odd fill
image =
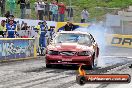
[[[56,51],[93,51],[93,46],[80,45],[77,43],[60,43],[48,46],[48,50]]]

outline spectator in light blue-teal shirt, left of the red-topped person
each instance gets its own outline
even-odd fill
[[[52,21],[58,22],[58,6],[55,2],[51,6],[51,11],[52,11]]]

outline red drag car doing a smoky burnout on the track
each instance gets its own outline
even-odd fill
[[[98,45],[90,33],[63,31],[46,48],[46,67],[84,64],[92,69],[98,55]]]

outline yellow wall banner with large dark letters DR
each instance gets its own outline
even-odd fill
[[[132,35],[106,34],[106,42],[109,46],[132,48]]]

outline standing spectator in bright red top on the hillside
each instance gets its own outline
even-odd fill
[[[63,2],[61,2],[60,4],[58,4],[58,6],[59,6],[60,22],[64,22],[66,7],[63,4]]]

